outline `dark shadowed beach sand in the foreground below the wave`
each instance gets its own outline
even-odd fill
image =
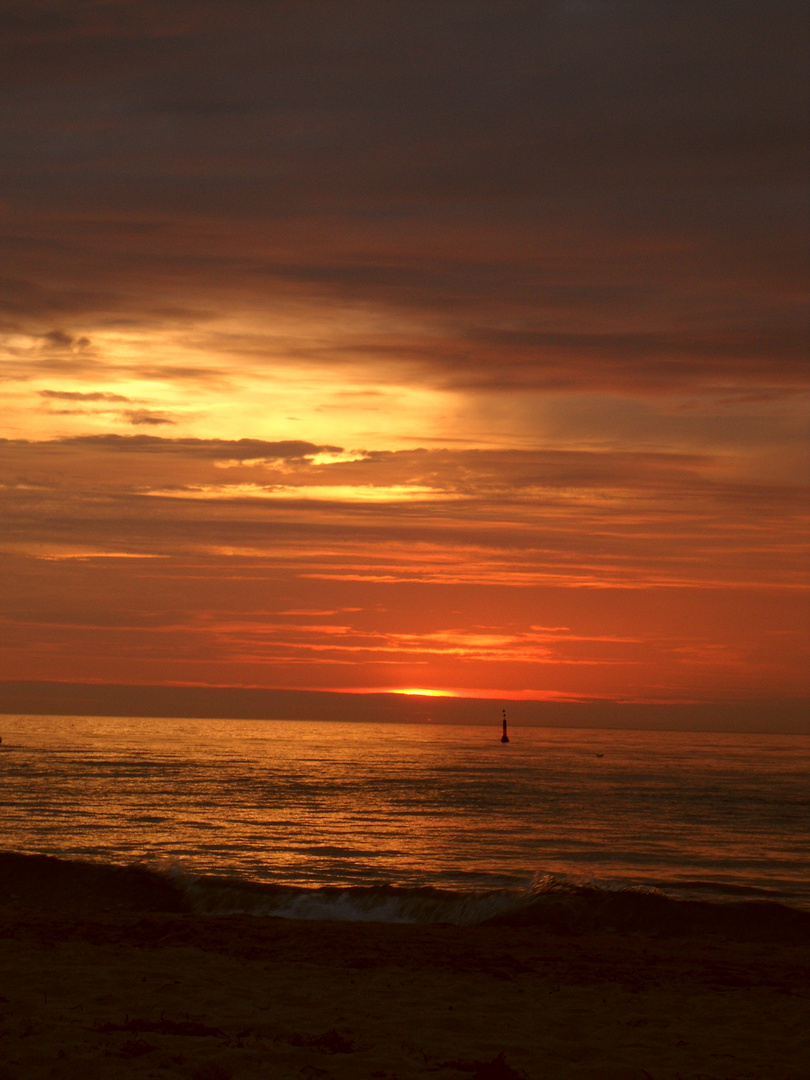
[[[810,944],[6,909],[39,1077],[808,1080]]]

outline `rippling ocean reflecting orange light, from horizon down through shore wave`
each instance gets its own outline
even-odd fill
[[[810,912],[810,737],[55,716],[0,735],[0,902]]]

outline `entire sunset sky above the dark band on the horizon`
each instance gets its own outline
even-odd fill
[[[802,3],[0,24],[0,678],[810,698]]]

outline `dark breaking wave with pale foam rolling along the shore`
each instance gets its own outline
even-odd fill
[[[392,885],[300,888],[144,865],[0,852],[0,904],[67,912],[162,912],[286,919],[717,934],[810,942],[810,912],[773,900],[677,900],[654,888],[605,888],[538,876],[526,889],[451,891]]]

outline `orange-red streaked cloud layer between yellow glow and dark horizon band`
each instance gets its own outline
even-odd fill
[[[156,436],[0,459],[5,677],[806,689],[797,491],[711,459]]]

